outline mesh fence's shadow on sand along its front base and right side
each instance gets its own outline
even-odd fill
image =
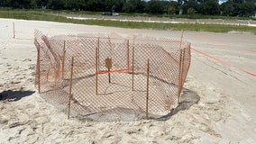
[[[149,113],[149,119],[156,121],[168,121],[172,115],[188,110],[192,105],[197,104],[200,100],[199,95],[187,88],[183,89],[180,97],[180,103],[177,107],[171,109],[166,115],[155,115]],[[91,112],[74,116],[80,121],[140,121],[146,119],[145,112],[134,112],[132,109],[116,108],[105,112]]]

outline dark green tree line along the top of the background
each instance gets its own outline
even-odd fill
[[[256,12],[256,0],[227,0],[222,4],[219,4],[218,0],[0,0],[0,6],[22,9],[246,17]]]

